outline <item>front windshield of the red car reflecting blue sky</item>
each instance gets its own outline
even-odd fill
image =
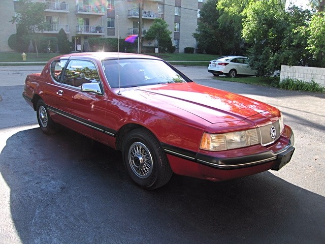
[[[187,82],[161,60],[110,59],[102,65],[111,88]]]

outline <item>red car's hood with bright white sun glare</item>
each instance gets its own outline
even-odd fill
[[[211,124],[243,120],[272,109],[262,102],[194,82],[140,86],[123,92],[123,96],[187,119],[200,117]]]

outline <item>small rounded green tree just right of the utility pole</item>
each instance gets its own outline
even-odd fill
[[[172,32],[168,29],[168,24],[163,19],[155,19],[146,32],[144,38],[153,41],[157,40],[158,48],[160,43],[168,43],[171,39]]]

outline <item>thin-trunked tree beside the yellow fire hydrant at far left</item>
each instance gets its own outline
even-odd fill
[[[46,29],[45,17],[43,12],[45,4],[40,2],[32,2],[30,0],[19,0],[19,10],[16,11],[16,16],[12,17],[11,22],[16,23],[27,29],[32,40],[35,43],[35,49],[38,56],[37,42],[38,33]]]

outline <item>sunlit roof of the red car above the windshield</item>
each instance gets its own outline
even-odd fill
[[[59,56],[60,58],[73,58],[73,57],[82,57],[82,58],[96,58],[96,59],[117,59],[117,58],[150,58],[161,60],[158,57],[145,55],[145,54],[136,54],[136,53],[124,53],[124,52],[77,52],[77,53],[68,53]]]

